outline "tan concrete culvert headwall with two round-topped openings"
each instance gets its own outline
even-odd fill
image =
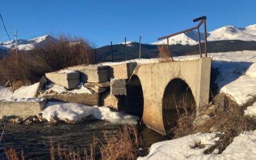
[[[167,134],[178,106],[198,111],[208,104],[210,75],[211,58],[139,65],[127,85],[129,111],[142,116],[147,127]]]

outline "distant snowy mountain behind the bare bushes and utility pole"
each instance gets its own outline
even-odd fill
[[[36,38],[32,38],[30,40],[17,40],[18,49],[23,51],[31,50],[35,47],[35,45],[44,44],[47,41],[55,40],[50,35],[39,36]],[[1,49],[15,49],[15,40],[0,42]]]

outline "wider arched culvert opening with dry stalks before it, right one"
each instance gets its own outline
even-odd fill
[[[166,134],[177,126],[179,116],[195,111],[195,99],[188,84],[182,79],[173,79],[166,86],[163,96],[163,122]]]

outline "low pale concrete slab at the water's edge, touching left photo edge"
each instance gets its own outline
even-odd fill
[[[47,100],[40,102],[0,102],[0,106],[4,106],[3,116],[17,116],[26,118],[27,116],[38,115],[45,108]]]

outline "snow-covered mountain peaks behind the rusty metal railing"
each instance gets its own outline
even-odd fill
[[[202,42],[204,42],[204,33],[200,33]],[[207,33],[207,41],[216,40],[243,40],[256,41],[256,24],[247,26],[246,28],[237,28],[235,26],[224,26]],[[161,40],[152,44],[167,44],[167,40]],[[189,31],[177,36],[169,38],[169,44],[195,45],[198,44],[197,31]]]

